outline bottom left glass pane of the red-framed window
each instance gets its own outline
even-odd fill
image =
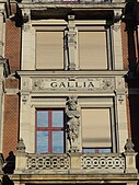
[[[37,153],[48,152],[48,131],[37,131]]]

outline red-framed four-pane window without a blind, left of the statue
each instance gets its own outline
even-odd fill
[[[36,109],[36,152],[65,152],[62,109]]]

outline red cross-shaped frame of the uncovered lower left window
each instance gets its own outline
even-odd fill
[[[48,127],[37,127],[37,112],[48,112]],[[65,151],[65,117],[63,127],[53,127],[53,112],[61,111],[62,108],[46,108],[36,109],[35,113],[35,152],[37,152],[37,131],[48,131],[48,153],[53,153],[53,131],[63,131],[63,151]]]

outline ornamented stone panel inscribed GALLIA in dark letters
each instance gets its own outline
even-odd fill
[[[33,90],[46,90],[46,89],[113,89],[114,81],[112,79],[93,79],[93,80],[47,80],[47,79],[33,79]]]

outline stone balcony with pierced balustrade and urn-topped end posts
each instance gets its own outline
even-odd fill
[[[16,151],[14,174],[126,174],[135,173],[136,154],[129,146],[124,153],[26,153],[23,140]]]

